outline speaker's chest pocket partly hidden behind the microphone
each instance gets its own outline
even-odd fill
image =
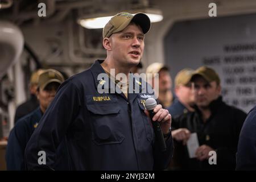
[[[146,130],[146,135],[147,135],[147,140],[150,142],[154,141],[154,130],[153,127],[150,123],[150,120],[148,119],[147,115],[144,113],[145,107],[143,105],[143,102],[145,100],[142,100],[141,98],[137,98],[137,102],[139,104],[139,108],[141,110],[142,113],[142,117],[143,117],[143,122],[144,122],[144,127]]]

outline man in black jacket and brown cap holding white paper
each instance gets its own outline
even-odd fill
[[[222,101],[220,78],[213,69],[198,68],[191,81],[195,84],[195,112],[172,121],[180,169],[233,170],[246,113]]]

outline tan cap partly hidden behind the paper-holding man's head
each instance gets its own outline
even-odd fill
[[[191,77],[195,72],[193,69],[185,68],[179,71],[175,77],[175,86],[178,85],[187,85],[191,80]]]

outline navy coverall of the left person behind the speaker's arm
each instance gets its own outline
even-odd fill
[[[43,113],[40,110],[40,107],[38,107],[31,113],[18,119],[16,122],[13,130],[10,132],[6,148],[7,170],[26,170],[24,163],[24,151],[28,140],[34,132],[36,126],[38,126],[42,115]],[[59,148],[57,149],[57,154],[58,158],[56,159],[54,168],[56,170],[68,170],[68,153],[64,142],[61,142]]]

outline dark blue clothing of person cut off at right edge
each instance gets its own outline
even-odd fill
[[[256,170],[256,106],[243,123],[238,141],[236,170]]]

